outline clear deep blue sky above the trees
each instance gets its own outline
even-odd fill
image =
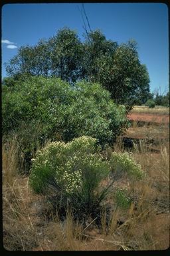
[[[58,29],[76,29],[80,39],[81,3],[7,4],[2,9],[2,63],[23,45],[35,45]],[[135,39],[141,63],[147,65],[153,92],[169,88],[168,9],[163,3],[84,3],[90,27],[101,29],[107,39],[126,43]],[[2,77],[6,76],[2,66]]]

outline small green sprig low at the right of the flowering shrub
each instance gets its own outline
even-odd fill
[[[116,204],[118,207],[127,209],[131,204],[131,199],[128,197],[128,191],[126,189],[117,189],[115,193]]]

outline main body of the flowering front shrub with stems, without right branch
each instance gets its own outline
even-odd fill
[[[52,142],[37,152],[29,176],[29,184],[36,193],[56,195],[53,205],[62,207],[68,201],[78,217],[100,208],[108,187],[100,182],[108,176],[110,166],[103,161],[97,140],[82,136],[69,143]]]

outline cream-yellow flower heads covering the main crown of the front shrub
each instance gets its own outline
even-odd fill
[[[68,143],[56,141],[46,145],[33,159],[32,184],[36,186],[37,183],[43,190],[48,182],[46,177],[52,175],[64,191],[75,193],[82,185],[84,169],[96,169],[102,173],[108,168],[101,156],[94,153],[96,141],[92,137],[82,136]]]

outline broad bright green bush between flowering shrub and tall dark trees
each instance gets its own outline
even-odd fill
[[[117,106],[108,91],[96,83],[82,81],[72,87],[55,77],[31,76],[19,77],[15,82],[6,79],[2,117],[3,134],[17,133],[20,138],[27,173],[37,143],[67,142],[87,135],[104,147],[114,143],[128,122],[125,108]]]

